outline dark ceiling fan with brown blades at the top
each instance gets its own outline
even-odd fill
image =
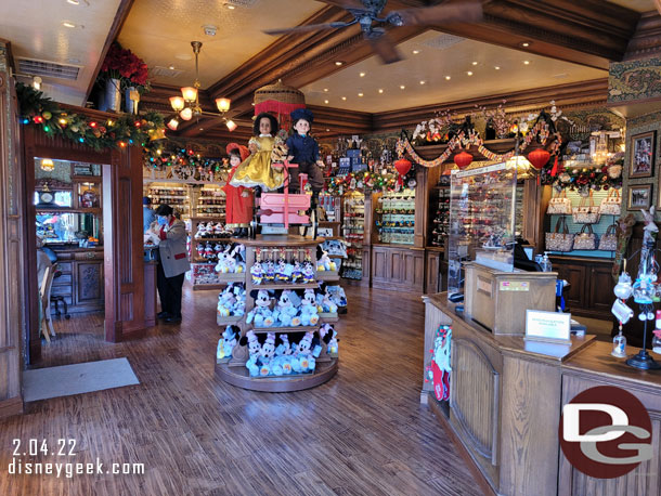
[[[402,60],[394,43],[388,37],[385,27],[392,26],[441,26],[452,23],[477,23],[482,18],[482,2],[466,0],[446,2],[437,5],[391,11],[380,17],[388,0],[345,0],[341,6],[353,15],[353,21],[328,24],[310,24],[283,29],[267,29],[268,35],[284,35],[287,32],[313,31],[317,29],[336,29],[360,25],[363,36],[372,50],[384,64],[392,64]]]

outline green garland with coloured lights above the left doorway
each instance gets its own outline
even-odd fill
[[[95,151],[165,139],[165,120],[156,112],[118,115],[103,121],[63,110],[56,102],[33,87],[17,83],[16,93],[23,125],[37,126],[49,136],[62,136]],[[147,146],[148,147],[148,146]]]

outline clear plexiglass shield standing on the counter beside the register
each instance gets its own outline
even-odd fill
[[[452,171],[448,295],[462,292],[462,262],[514,271],[516,169],[495,164]]]

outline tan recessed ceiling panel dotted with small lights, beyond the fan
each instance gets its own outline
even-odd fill
[[[399,45],[406,60],[376,57],[301,90],[312,105],[379,113],[604,78],[607,70],[430,30]],[[404,87],[402,89],[402,87]]]

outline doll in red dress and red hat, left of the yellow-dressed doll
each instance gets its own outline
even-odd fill
[[[231,181],[236,169],[249,157],[250,152],[236,143],[230,143],[226,152],[232,170],[228,177],[228,183],[222,187],[225,192],[225,227],[233,229],[236,237],[247,237],[255,204],[252,191],[245,186],[233,186]]]

